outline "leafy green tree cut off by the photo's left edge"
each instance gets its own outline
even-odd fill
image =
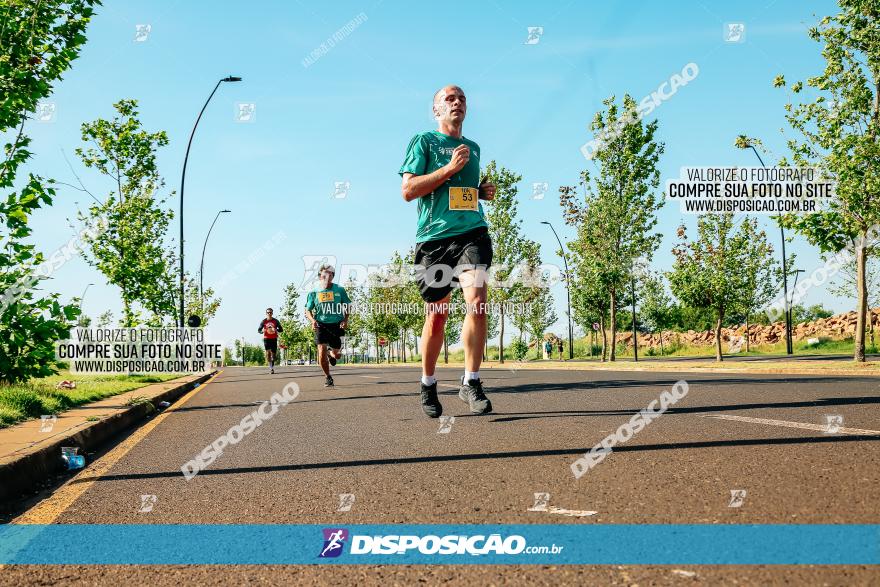
[[[55,341],[65,338],[80,313],[56,293],[36,286],[54,269],[27,242],[30,217],[56,195],[53,180],[33,173],[16,181],[31,158],[25,123],[70,69],[86,42],[96,1],[0,3],[0,134],[9,137],[0,159],[0,382],[56,372]],[[16,185],[18,186],[16,188]],[[39,270],[39,271],[38,271]],[[43,275],[40,276],[39,274]]]

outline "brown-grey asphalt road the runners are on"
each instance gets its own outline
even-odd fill
[[[227,368],[147,432],[23,506],[20,522],[880,523],[880,378],[573,370],[483,371],[471,416],[441,369],[448,433],[421,413],[416,368]],[[580,479],[570,465],[678,379],[686,397]],[[259,403],[301,393],[187,482],[183,463]],[[844,433],[828,434],[829,415]],[[743,419],[745,418],[745,419]],[[739,507],[731,491],[745,490]],[[339,494],[354,494],[337,511]],[[530,511],[535,493],[572,517]],[[155,495],[141,512],[142,495]],[[185,545],[182,545],[185,547]],[[875,567],[12,566],[0,583],[877,584]]]

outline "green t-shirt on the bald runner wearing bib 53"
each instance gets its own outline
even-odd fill
[[[464,234],[487,226],[483,218],[483,206],[479,201],[480,146],[477,143],[464,137],[450,137],[436,130],[419,133],[409,142],[399,173],[401,176],[404,173],[427,175],[437,171],[449,163],[452,151],[462,144],[471,149],[467,165],[442,186],[418,199],[417,243]],[[450,188],[453,191],[452,199]]]

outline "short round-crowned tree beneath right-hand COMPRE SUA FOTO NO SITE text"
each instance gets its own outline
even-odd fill
[[[678,228],[680,242],[672,249],[673,269],[667,273],[672,293],[684,304],[715,315],[715,358],[723,361],[721,327],[729,312],[745,305],[751,295],[743,268],[754,266],[757,283],[763,287],[772,279],[773,261],[762,232],[743,222],[734,232],[732,214],[709,214],[697,220],[697,238],[688,241],[684,226]]]

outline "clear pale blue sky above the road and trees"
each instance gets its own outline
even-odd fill
[[[809,4],[809,5],[808,5]],[[110,117],[121,98],[140,102],[151,130],[168,132],[159,168],[169,190],[179,190],[186,141],[199,108],[216,80],[233,74],[200,123],[187,168],[187,269],[198,269],[202,242],[222,208],[205,262],[206,285],[283,231],[286,238],[219,295],[222,307],[211,338],[228,343],[258,340],[263,309],[281,302],[284,286],[300,282],[303,255],[335,255],[339,263],[385,262],[414,241],[416,206],[400,197],[400,166],[407,142],[434,127],[433,92],[447,83],[464,88],[469,112],[464,132],[523,176],[520,214],[528,237],[542,245],[545,262],[557,249],[541,220],[565,238],[560,185],[574,184],[587,163],[579,147],[601,101],[609,94],[636,99],[655,90],[688,62],[697,79],[651,115],[666,143],[662,179],[682,166],[753,165],[750,152],[733,147],[745,133],[785,153],[786,90],[773,78],[804,79],[822,66],[819,46],[806,36],[833,2],[166,2],[108,1],[88,29],[88,43],[49,101],[54,122],[31,124],[35,157],[30,169],[75,183],[62,149],[96,195],[110,182],[82,168],[73,153],[79,126]],[[302,60],[351,19],[362,22],[309,67]],[[725,43],[728,22],[746,25],[745,42]],[[135,42],[137,24],[148,24]],[[525,44],[527,27],[542,26],[537,44]],[[256,104],[253,123],[236,122],[237,102]],[[345,199],[332,199],[335,181],[350,181]],[[543,200],[532,183],[548,182]],[[66,218],[88,196],[61,187],[51,208],[34,219],[34,237],[50,253],[72,232]],[[176,199],[172,202],[177,209]],[[664,241],[654,267],[666,269],[682,216],[672,204],[660,214]],[[775,246],[778,229],[768,226]],[[693,224],[693,218],[686,223]],[[172,236],[176,239],[175,225]],[[176,246],[176,240],[175,246]],[[815,249],[796,237],[797,266],[819,264]],[[50,285],[65,298],[86,296],[92,317],[119,315],[118,291],[83,260],[71,261]],[[554,288],[565,331],[565,292]],[[807,303],[843,311],[852,301],[824,288]]]

